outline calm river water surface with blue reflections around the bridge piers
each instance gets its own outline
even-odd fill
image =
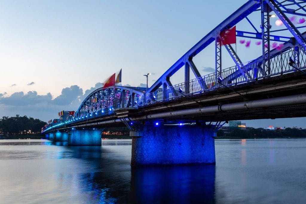
[[[306,203],[306,139],[219,139],[216,165],[136,169],[131,143],[0,140],[0,203]]]

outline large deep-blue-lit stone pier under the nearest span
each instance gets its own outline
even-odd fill
[[[203,125],[142,125],[132,136],[132,166],[215,164],[215,133]]]

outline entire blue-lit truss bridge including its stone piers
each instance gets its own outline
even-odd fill
[[[69,145],[101,145],[102,128],[126,126],[132,137],[133,166],[214,164],[215,132],[226,121],[306,116],[305,8],[302,0],[250,0],[147,91],[99,88],[85,98],[74,117],[65,113],[43,132]],[[282,27],[272,26],[272,17]],[[229,36],[237,43],[245,40],[248,52],[258,57],[242,62],[228,43]],[[250,39],[256,45],[250,46]],[[201,76],[194,61],[208,46],[215,47],[215,72]],[[221,56],[234,66],[223,67]],[[171,77],[180,69],[184,80],[173,85]],[[190,79],[190,71],[195,79]]]

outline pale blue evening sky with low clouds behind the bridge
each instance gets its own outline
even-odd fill
[[[149,87],[244,1],[0,1],[0,117],[43,121],[77,110],[84,98],[122,69],[122,85]],[[257,15],[257,16],[256,16]],[[260,13],[250,18],[259,19]],[[260,22],[257,25],[259,25]],[[251,31],[247,22],[237,30]],[[259,29],[259,26],[257,26]],[[253,41],[252,43],[255,43]],[[242,61],[260,46],[235,45]],[[194,58],[214,71],[214,45]],[[233,61],[222,55],[222,66]],[[194,76],[191,75],[191,78]],[[172,84],[184,79],[182,70]],[[299,126],[304,118],[244,121],[247,126]]]

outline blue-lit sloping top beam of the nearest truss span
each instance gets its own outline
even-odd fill
[[[209,32],[205,37],[203,37],[196,45],[194,45],[190,50],[188,50],[179,60],[177,60],[174,65],[172,65],[156,82],[148,89],[147,93],[156,91],[160,86],[162,86],[162,79],[164,77],[170,77],[179,69],[181,69],[190,57],[195,57],[200,53],[205,47],[215,41],[215,36],[218,31],[224,30],[225,28],[231,28],[248,16],[250,13],[258,9],[260,2],[249,0],[239,9],[236,10],[230,17],[222,21],[221,24],[216,26],[211,32]],[[204,86],[203,86],[204,87]]]

